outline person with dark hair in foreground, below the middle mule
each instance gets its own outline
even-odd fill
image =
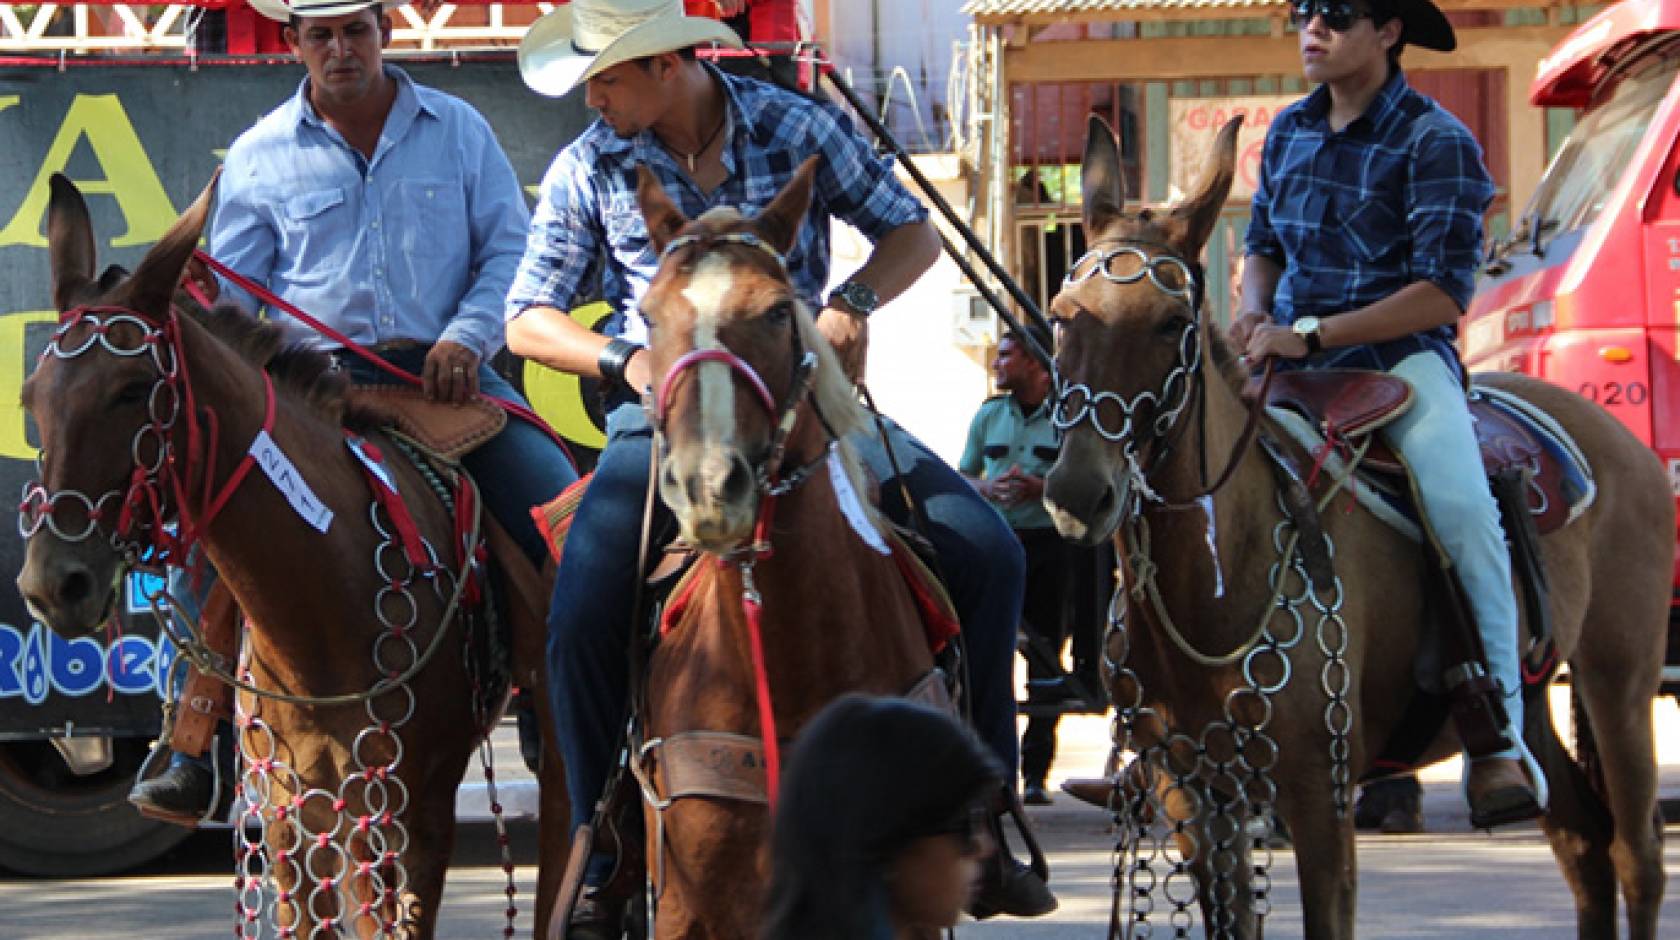
[[[894,940],[956,923],[979,885],[1008,772],[954,718],[847,695],[781,779],[761,940]]]

